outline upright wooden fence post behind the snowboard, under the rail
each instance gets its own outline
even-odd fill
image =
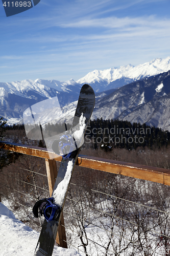
[[[50,196],[52,196],[54,184],[57,178],[57,165],[55,160],[45,159],[46,173],[48,178],[48,187],[50,191]],[[56,243],[63,247],[67,248],[65,227],[64,227],[64,217],[63,212],[61,213],[61,220],[59,223],[59,230],[57,233]]]

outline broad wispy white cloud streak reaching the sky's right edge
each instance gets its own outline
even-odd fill
[[[54,24],[53,24],[54,26]],[[78,20],[72,23],[58,23],[55,24],[57,27],[63,28],[60,33],[51,33],[47,36],[39,35],[36,36],[34,33],[32,35],[25,35],[22,38],[11,39],[11,42],[32,42],[32,43],[53,43],[50,47],[42,46],[47,51],[55,50],[54,44],[56,43],[57,48],[61,50],[63,48],[74,47],[74,44],[77,46],[82,46],[87,44],[87,48],[93,41],[105,41],[108,43],[116,40],[124,40],[125,44],[128,43],[128,40],[132,38],[136,40],[140,38],[142,41],[155,38],[166,37],[169,40],[170,36],[170,19],[158,18],[154,15],[152,16],[142,16],[142,17],[106,17],[106,18],[98,18],[98,19],[83,19]],[[64,29],[70,28],[72,29],[70,33],[64,32]],[[81,28],[81,32],[77,31],[77,28]],[[93,28],[93,30],[86,29]],[[98,28],[97,30],[95,28]],[[84,29],[84,33],[83,32]],[[88,33],[88,36],[87,36]],[[114,41],[113,41],[114,42]],[[42,48],[40,48],[42,50]],[[40,51],[39,51],[40,52]],[[10,56],[4,58],[15,58],[15,56]],[[16,56],[16,58],[21,58],[20,56]]]

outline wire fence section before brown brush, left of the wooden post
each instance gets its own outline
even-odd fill
[[[32,207],[40,198],[49,197],[44,159],[23,156],[0,172],[2,202],[15,217],[37,231],[43,219],[34,218]]]

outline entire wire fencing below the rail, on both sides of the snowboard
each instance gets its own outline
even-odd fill
[[[40,231],[34,203],[50,196],[44,159],[25,156],[0,172],[2,202]],[[170,255],[169,187],[76,167],[64,206],[68,247],[81,255]],[[95,179],[94,179],[95,177]]]

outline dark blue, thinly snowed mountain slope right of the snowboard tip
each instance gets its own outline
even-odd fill
[[[146,123],[170,131],[170,71],[97,98],[92,118],[101,117]]]

